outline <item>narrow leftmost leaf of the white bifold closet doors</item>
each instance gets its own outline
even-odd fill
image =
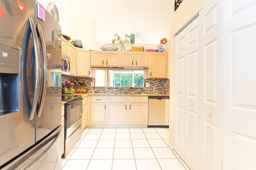
[[[174,150],[184,160],[186,114],[186,30],[175,37],[174,59]]]

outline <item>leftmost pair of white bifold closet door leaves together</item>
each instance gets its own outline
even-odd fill
[[[198,18],[175,37],[174,150],[191,168],[199,166]]]

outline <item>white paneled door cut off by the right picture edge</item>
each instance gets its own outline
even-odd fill
[[[223,1],[223,169],[256,169],[256,0]]]

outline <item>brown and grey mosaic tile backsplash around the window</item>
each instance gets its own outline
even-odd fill
[[[86,85],[81,87],[77,86],[76,88],[84,88],[87,93],[92,93],[93,89],[95,93],[128,93],[128,87],[92,87],[92,78],[62,76],[62,84],[65,84],[67,80],[71,82],[74,82],[75,80],[85,82]],[[131,87],[130,93],[170,93],[170,79],[145,79],[144,83],[150,83],[150,87]]]

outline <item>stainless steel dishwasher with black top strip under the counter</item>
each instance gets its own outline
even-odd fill
[[[148,127],[169,127],[169,96],[148,96]]]

